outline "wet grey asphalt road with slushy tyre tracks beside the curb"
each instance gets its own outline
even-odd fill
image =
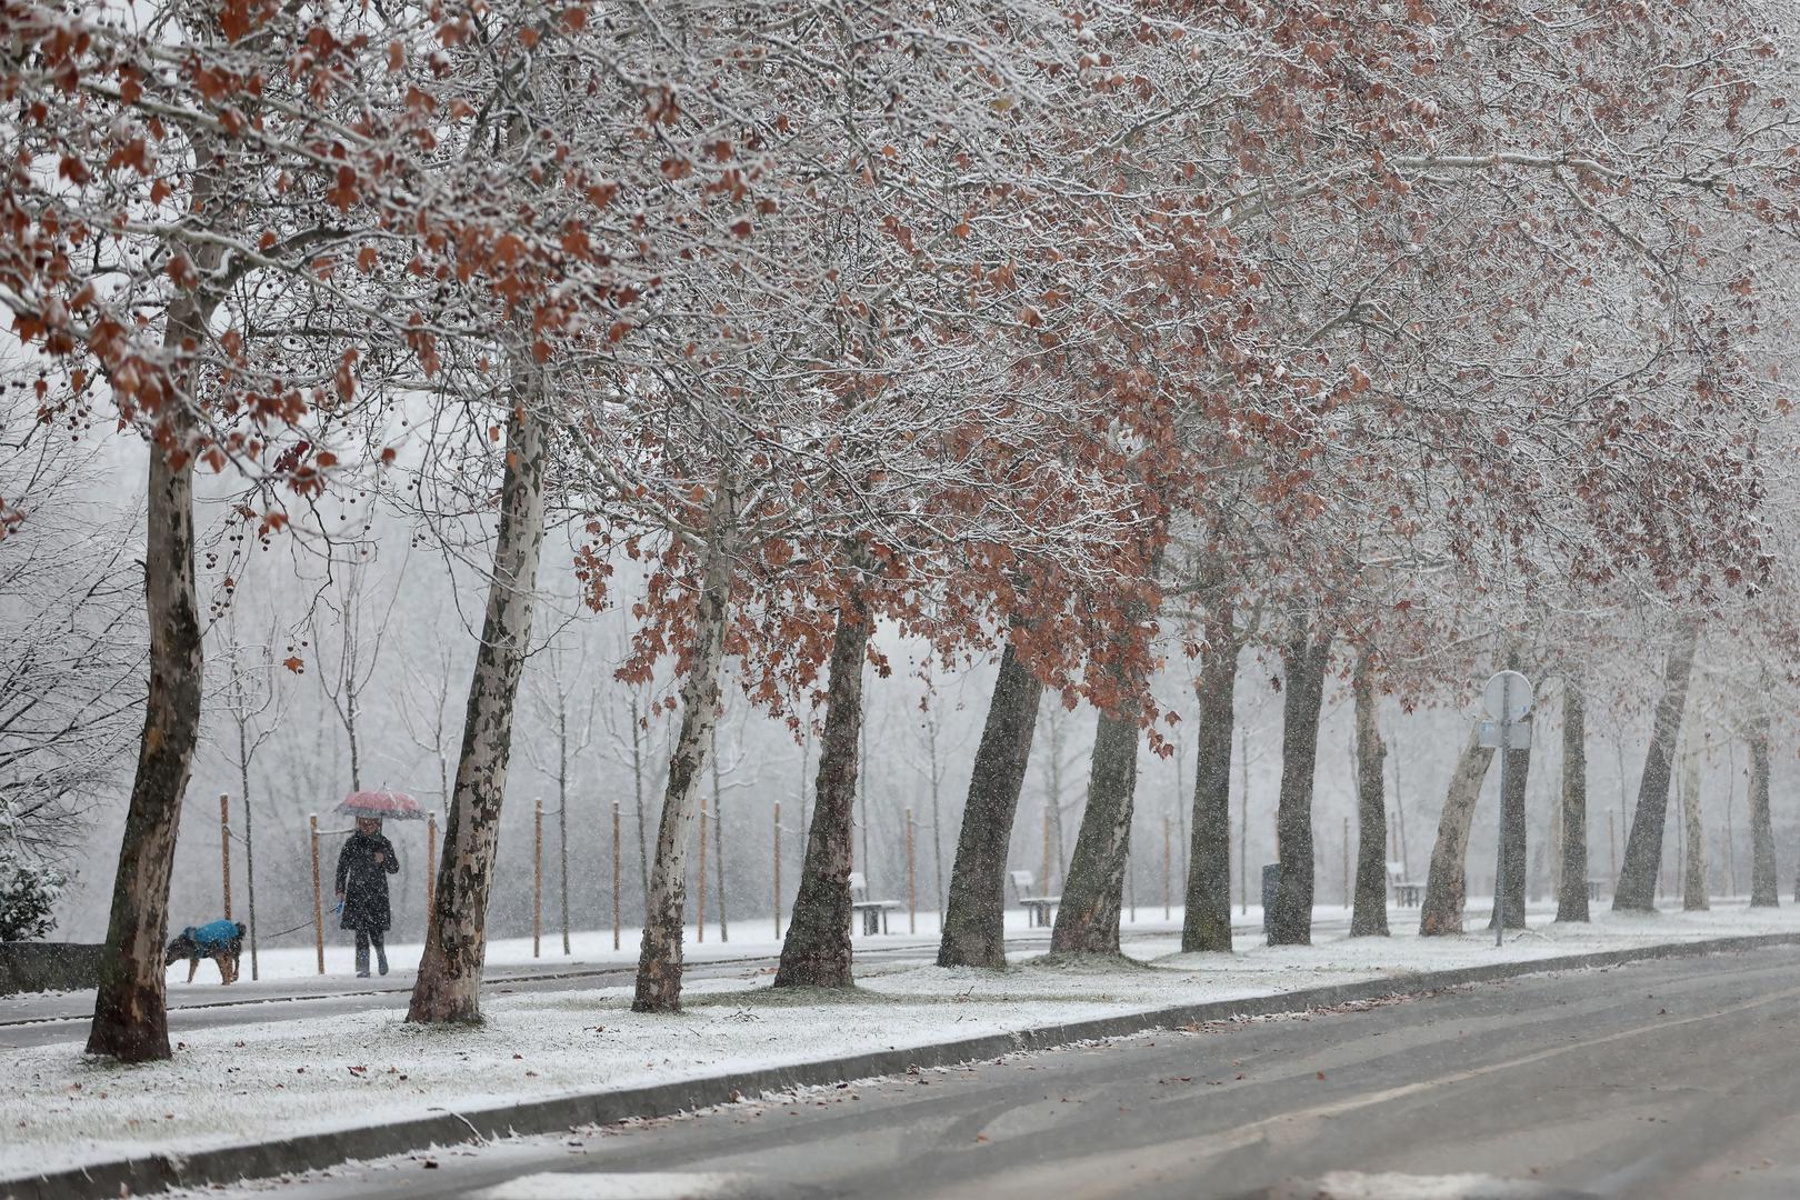
[[[1143,1034],[238,1195],[268,1189],[308,1200],[1789,1198],[1800,1195],[1800,950]]]

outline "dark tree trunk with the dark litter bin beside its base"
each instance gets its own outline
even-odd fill
[[[1282,795],[1276,801],[1274,838],[1282,878],[1269,919],[1271,946],[1312,945],[1312,777],[1319,757],[1319,705],[1332,639],[1300,633],[1283,658]]]

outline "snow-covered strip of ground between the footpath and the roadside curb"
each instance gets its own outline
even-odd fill
[[[1696,914],[1600,912],[1591,927],[1557,927],[1544,914],[1501,950],[1480,928],[1420,939],[1415,921],[1417,912],[1395,910],[1395,937],[1319,932],[1312,946],[1269,948],[1240,936],[1231,955],[1179,954],[1168,927],[1127,930],[1125,950],[1138,963],[1103,968],[1035,963],[1037,950],[1006,972],[866,961],[859,990],[846,997],[774,993],[767,970],[752,966],[691,981],[686,1011],[675,1016],[632,1013],[625,988],[493,993],[479,1029],[421,1029],[392,1007],[371,1009],[184,1033],[173,1061],[146,1067],[88,1060],[79,1042],[4,1051],[13,1087],[0,1096],[0,1177],[1328,982],[1800,932],[1800,910],[1746,912],[1741,903]]]

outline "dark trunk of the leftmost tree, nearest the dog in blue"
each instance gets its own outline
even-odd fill
[[[212,153],[194,142],[194,210],[214,205]],[[189,246],[200,279],[211,279],[221,246]],[[169,932],[169,878],[182,797],[200,743],[203,685],[200,599],[194,588],[196,369],[185,362],[207,333],[218,297],[184,291],[169,304],[164,349],[178,380],[149,448],[144,524],[144,608],[149,617],[149,693],[124,840],[113,874],[112,914],[101,952],[88,1052],[126,1063],[169,1058],[162,948]]]

